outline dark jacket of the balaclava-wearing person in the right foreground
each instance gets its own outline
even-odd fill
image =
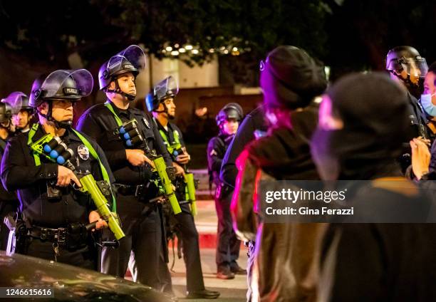
[[[422,193],[405,187],[362,190],[352,202],[414,204],[427,216]],[[323,241],[320,301],[434,301],[435,233],[432,223],[331,224]]]

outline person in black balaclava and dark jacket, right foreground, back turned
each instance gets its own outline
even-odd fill
[[[372,204],[369,215],[355,209],[360,219],[385,222],[407,207],[414,222],[430,218],[431,202],[395,161],[407,120],[404,88],[381,73],[348,75],[323,97],[313,159],[323,179],[353,184],[347,202]],[[331,224],[318,301],[433,301],[435,234],[436,224]]]

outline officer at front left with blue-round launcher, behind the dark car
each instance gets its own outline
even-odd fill
[[[15,251],[19,254],[95,269],[94,242],[84,226],[98,221],[96,228],[100,229],[107,224],[90,196],[71,186],[81,187],[79,175],[89,173],[97,180],[111,182],[103,150],[71,128],[73,104],[89,95],[92,88],[93,77],[84,69],[53,71],[33,82],[29,103],[39,123],[11,139],[1,161],[4,187],[19,194],[23,220],[17,222],[15,231]],[[53,153],[53,158],[62,164],[61,158],[69,157],[68,167],[33,151],[31,146],[46,135],[61,141],[63,145],[53,145],[53,151],[60,154]]]

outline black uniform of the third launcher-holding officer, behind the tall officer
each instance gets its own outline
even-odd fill
[[[177,131],[180,145],[182,145],[182,147],[185,147],[185,142],[183,141],[182,137],[182,131],[180,131],[177,125],[175,125],[174,123],[168,123],[167,129],[165,129],[165,127],[163,127],[158,120],[156,120],[155,118],[153,118],[153,120],[157,124],[158,129],[165,133],[170,145],[174,145],[176,143],[174,132]],[[167,142],[165,140],[164,144],[167,145]],[[172,157],[172,160],[175,161],[174,156]],[[191,214],[190,206],[187,202],[184,202],[186,201],[184,185],[185,183],[179,183],[183,185],[177,187],[176,197],[179,202],[182,202],[182,204],[180,204],[180,209],[182,209],[182,212],[180,214],[174,215],[174,217],[177,220],[177,227],[179,228],[180,234],[182,235],[183,259],[185,260],[186,265],[187,291],[203,291],[204,281],[202,264],[199,254],[198,232],[197,228],[195,227],[194,217]]]

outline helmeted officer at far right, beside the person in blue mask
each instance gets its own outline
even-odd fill
[[[427,62],[418,51],[411,46],[397,46],[392,48],[386,56],[386,71],[390,78],[407,88],[409,100],[410,127],[408,127],[407,141],[403,143],[404,151],[400,157],[403,172],[410,166],[409,141],[413,137],[432,140],[432,132],[427,127],[428,120],[417,98],[423,89],[423,80],[427,73]]]

